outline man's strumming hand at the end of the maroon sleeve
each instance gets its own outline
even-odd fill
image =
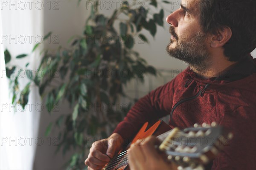
[[[123,139],[118,133],[113,133],[108,139],[93,142],[88,158],[84,164],[88,170],[99,170],[122,149]]]

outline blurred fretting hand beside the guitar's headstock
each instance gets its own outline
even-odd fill
[[[177,170],[175,164],[171,164],[154,147],[159,144],[154,136],[149,136],[145,141],[137,141],[128,150],[128,161],[131,170]]]

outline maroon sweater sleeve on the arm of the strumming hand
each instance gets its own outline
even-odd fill
[[[130,142],[145,122],[153,123],[168,115],[172,108],[174,89],[175,79],[139,99],[113,133],[119,133]]]

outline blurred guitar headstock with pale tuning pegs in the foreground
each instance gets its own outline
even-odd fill
[[[203,170],[233,137],[223,127],[195,124],[183,130],[174,128],[160,144],[159,149],[168,155],[170,161],[179,165],[178,169]]]

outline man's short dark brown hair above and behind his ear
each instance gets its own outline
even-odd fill
[[[256,48],[256,3],[254,0],[201,0],[200,24],[205,33],[229,27],[230,40],[223,46],[230,61],[238,61]]]

